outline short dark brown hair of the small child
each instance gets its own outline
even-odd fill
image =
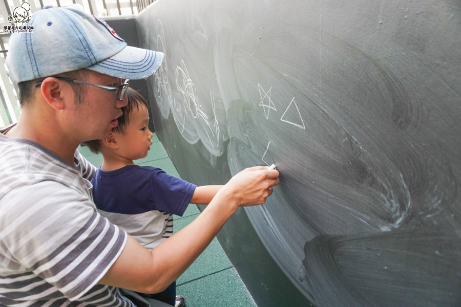
[[[149,105],[147,101],[145,101],[144,97],[142,97],[141,94],[133,90],[131,87],[128,87],[127,93],[125,93],[125,95],[128,98],[128,104],[127,106],[121,108],[123,115],[118,118],[118,125],[112,128],[112,131],[121,134],[125,133],[125,129],[130,122],[130,114],[134,108],[139,109],[140,106],[144,106],[149,110]],[[101,140],[87,141],[83,142],[83,144],[88,146],[88,148],[90,148],[93,153],[99,153]]]

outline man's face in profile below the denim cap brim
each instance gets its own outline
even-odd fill
[[[87,82],[119,86],[120,79],[90,71]],[[118,125],[117,118],[122,115],[121,107],[127,105],[125,97],[123,101],[117,100],[115,92],[107,92],[98,87],[83,85],[85,95],[80,103],[75,103],[72,109],[72,124],[78,127],[78,134],[83,141],[103,139],[110,135],[111,129]],[[83,142],[82,141],[82,142]]]

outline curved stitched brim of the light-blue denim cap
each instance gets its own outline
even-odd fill
[[[87,68],[113,77],[136,80],[154,74],[162,61],[162,52],[127,46],[110,58]]]

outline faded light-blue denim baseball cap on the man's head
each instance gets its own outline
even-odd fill
[[[8,42],[6,64],[16,83],[82,68],[142,79],[163,60],[161,52],[127,46],[105,21],[78,9],[43,9],[25,25],[33,32],[12,33]]]

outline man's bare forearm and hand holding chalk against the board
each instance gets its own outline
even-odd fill
[[[99,281],[119,288],[157,293],[176,280],[208,246],[240,206],[263,204],[279,183],[279,172],[258,166],[236,174],[189,225],[152,252],[129,237],[122,253]]]

